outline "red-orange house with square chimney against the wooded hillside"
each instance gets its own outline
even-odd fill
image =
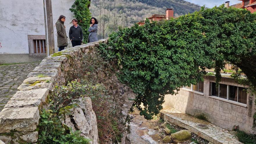
[[[167,8],[166,9],[166,15],[154,14],[151,17],[148,17],[148,19],[150,21],[160,21],[160,20],[163,20],[163,19],[169,19],[170,17],[174,17],[173,15],[174,15],[173,9],[172,8]],[[137,22],[137,24],[142,26],[142,25],[145,24],[145,21]]]

